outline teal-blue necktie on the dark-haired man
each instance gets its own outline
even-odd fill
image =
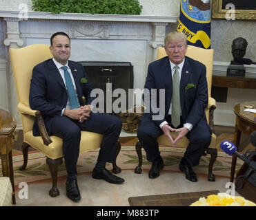
[[[68,72],[68,67],[63,66],[63,67],[61,67],[61,69],[64,70],[64,78],[65,78],[65,81],[66,81],[66,87],[67,87],[67,90],[68,90],[68,96],[69,96],[69,100],[70,100],[71,109],[78,109],[79,104],[77,102],[77,96],[76,96],[76,93],[75,93],[75,88],[74,88],[74,85],[72,83],[71,76]]]

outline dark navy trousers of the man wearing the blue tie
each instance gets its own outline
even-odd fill
[[[90,113],[82,123],[66,116],[57,116],[51,122],[51,134],[63,140],[63,156],[68,175],[77,175],[77,159],[81,131],[91,131],[104,135],[98,159],[102,162],[115,162],[117,140],[121,132],[121,120],[105,113]]]

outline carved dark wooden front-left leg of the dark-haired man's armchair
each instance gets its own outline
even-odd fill
[[[59,190],[57,188],[57,173],[58,166],[63,162],[63,157],[58,159],[50,159],[46,157],[46,164],[48,164],[50,169],[50,175],[52,176],[52,188],[49,190],[49,195],[51,197],[57,197],[59,195]]]

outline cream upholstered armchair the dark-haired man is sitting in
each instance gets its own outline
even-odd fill
[[[32,69],[35,65],[52,58],[49,45],[36,44],[20,49],[10,49],[10,59],[14,73],[15,85],[18,95],[18,110],[21,113],[23,126],[23,166],[25,170],[28,162],[28,147],[32,146],[46,155],[46,163],[49,166],[52,176],[52,188],[49,191],[51,197],[59,195],[57,188],[57,166],[63,162],[62,139],[57,136],[49,136],[43,122],[40,111],[30,109],[29,91]],[[37,118],[41,136],[35,137],[32,134],[32,126]],[[92,151],[100,147],[103,135],[88,131],[81,132],[80,153]],[[117,144],[117,155],[120,151],[120,144]],[[120,173],[121,169],[113,163],[113,173]]]

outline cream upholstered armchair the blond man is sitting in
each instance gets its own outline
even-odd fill
[[[166,55],[166,51],[164,47],[159,47],[157,52],[157,59],[162,58]],[[215,99],[210,97],[211,87],[212,87],[212,76],[213,76],[213,49],[206,50],[200,47],[195,47],[188,45],[188,50],[186,52],[186,56],[193,58],[204,65],[206,65],[206,77],[208,83],[208,106],[206,107],[206,118],[207,122],[210,126],[212,131],[212,139],[210,142],[210,146],[208,146],[206,153],[210,154],[210,162],[208,166],[208,181],[215,181],[215,175],[213,175],[213,164],[217,158],[217,149],[216,149],[216,135],[214,131],[214,124],[213,124],[213,111],[216,109],[216,101]],[[173,137],[177,137],[177,133],[172,133]],[[164,146],[171,146],[170,142],[166,138],[165,135],[161,135],[157,138],[157,142],[160,145]],[[176,146],[188,146],[188,138],[182,138]],[[135,168],[135,173],[141,173],[141,166],[142,166],[142,154],[141,154],[141,144],[137,142],[136,144],[136,151],[139,157],[139,165]],[[206,154],[205,154],[206,155]]]

